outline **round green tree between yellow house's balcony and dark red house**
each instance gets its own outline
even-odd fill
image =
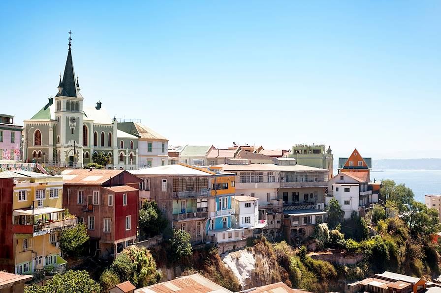
[[[83,244],[89,240],[85,224],[78,224],[60,233],[60,246],[63,254],[78,256]]]

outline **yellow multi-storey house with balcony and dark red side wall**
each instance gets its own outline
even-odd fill
[[[1,223],[6,224],[0,233],[10,235],[5,239],[4,255],[0,253],[0,259],[9,259],[9,266],[3,264],[3,268],[16,274],[33,274],[34,279],[63,273],[66,261],[61,257],[59,235],[76,225],[76,218],[67,216],[62,207],[63,177],[1,172],[0,193],[2,203],[8,206],[6,211],[0,210]]]

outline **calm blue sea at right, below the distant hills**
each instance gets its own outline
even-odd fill
[[[424,195],[441,193],[441,170],[371,170],[371,181],[390,179],[412,189],[416,201],[424,203]]]

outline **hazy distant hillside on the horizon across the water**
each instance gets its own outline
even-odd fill
[[[441,170],[441,159],[381,159],[372,160],[373,170]]]

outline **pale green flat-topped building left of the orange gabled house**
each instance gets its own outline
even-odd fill
[[[328,147],[326,150],[324,144],[293,145],[289,158],[294,158],[299,165],[328,169],[329,179],[333,176],[334,155],[332,154],[331,147]]]

